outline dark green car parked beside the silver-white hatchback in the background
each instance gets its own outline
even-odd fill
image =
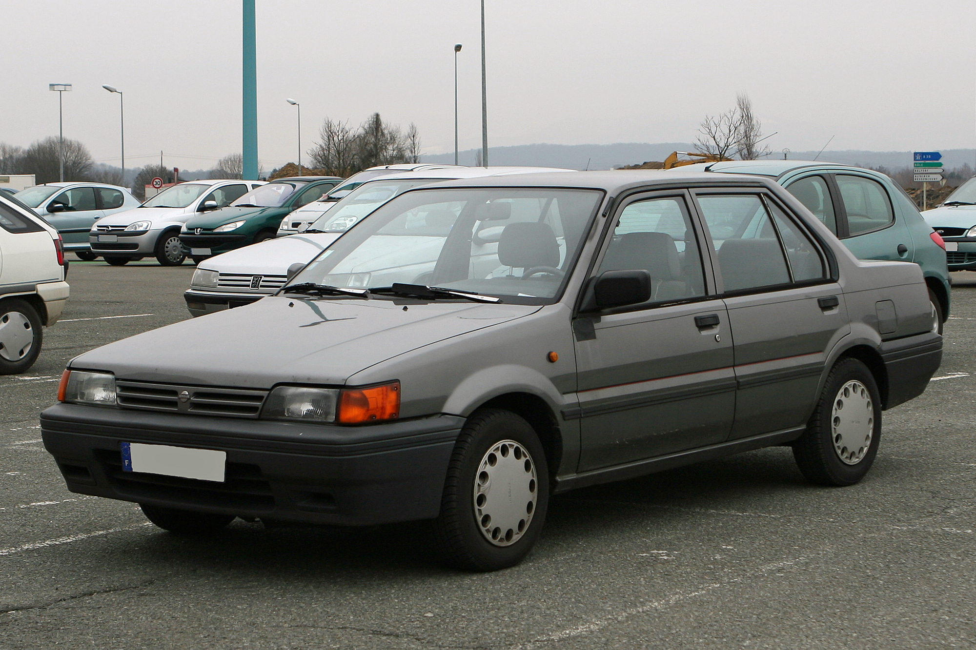
[[[270,239],[291,211],[322,197],[342,179],[298,176],[256,187],[225,208],[193,217],[180,241],[193,262]]]

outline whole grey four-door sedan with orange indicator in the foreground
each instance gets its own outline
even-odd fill
[[[428,519],[492,570],[577,487],[771,445],[856,483],[941,355],[918,266],[857,260],[773,181],[466,179],[274,296],[72,359],[41,426],[69,490],[176,533]]]

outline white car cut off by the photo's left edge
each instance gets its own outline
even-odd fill
[[[58,322],[70,289],[58,230],[0,197],[0,375],[34,364],[42,326]]]

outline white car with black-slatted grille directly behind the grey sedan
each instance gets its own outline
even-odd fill
[[[276,292],[292,275],[346,230],[394,196],[420,185],[485,176],[572,172],[551,167],[455,167],[453,165],[374,178],[346,193],[304,232],[268,239],[218,255],[197,266],[183,293],[186,308],[202,316],[248,305]],[[353,178],[353,177],[350,177]],[[435,217],[427,216],[429,221]],[[297,271],[297,268],[294,270]]]

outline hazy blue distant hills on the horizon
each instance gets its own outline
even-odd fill
[[[489,147],[488,162],[492,165],[528,165],[533,167],[565,167],[568,169],[591,170],[614,169],[623,165],[639,165],[651,160],[664,160],[671,151],[690,151],[694,145],[689,142],[618,142],[616,144],[519,144],[516,146]],[[791,151],[787,155],[793,160],[813,160],[818,151]],[[459,154],[462,165],[473,165],[477,149],[467,149]],[[772,153],[771,158],[782,158],[783,153]],[[454,153],[441,153],[422,157],[423,162],[454,162]],[[826,162],[878,167],[883,165],[891,170],[912,166],[911,151],[824,151],[818,160]],[[947,168],[974,166],[976,149],[944,149],[942,160]]]

